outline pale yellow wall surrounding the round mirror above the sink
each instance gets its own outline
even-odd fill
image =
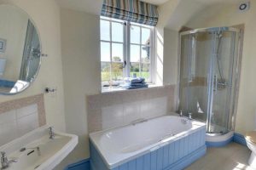
[[[56,87],[55,97],[49,94],[44,95],[46,119],[49,125],[65,131],[60,8],[53,0],[1,0],[0,4],[2,3],[14,4],[32,17],[40,33],[43,52],[49,56],[42,59],[38,78],[32,83],[31,88],[14,96],[0,96],[0,102],[41,94],[46,87]]]

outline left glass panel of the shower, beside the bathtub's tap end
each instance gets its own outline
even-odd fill
[[[202,122],[207,122],[209,111],[209,67],[214,38],[209,32],[181,35],[179,109]]]

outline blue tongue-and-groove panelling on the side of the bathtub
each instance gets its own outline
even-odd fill
[[[204,156],[206,131],[201,129],[111,170],[180,170]],[[91,170],[109,170],[93,144],[90,144]]]

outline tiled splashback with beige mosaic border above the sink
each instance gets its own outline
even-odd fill
[[[45,124],[43,94],[4,102],[0,107],[0,145]]]

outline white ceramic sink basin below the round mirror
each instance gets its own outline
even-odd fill
[[[78,144],[78,137],[73,134],[55,132],[55,138],[49,139],[48,128],[49,126],[39,127],[31,133],[1,146],[0,151],[6,152],[9,160],[17,160],[17,162],[10,163],[9,167],[5,169],[51,170]],[[37,147],[40,151],[29,149]]]

